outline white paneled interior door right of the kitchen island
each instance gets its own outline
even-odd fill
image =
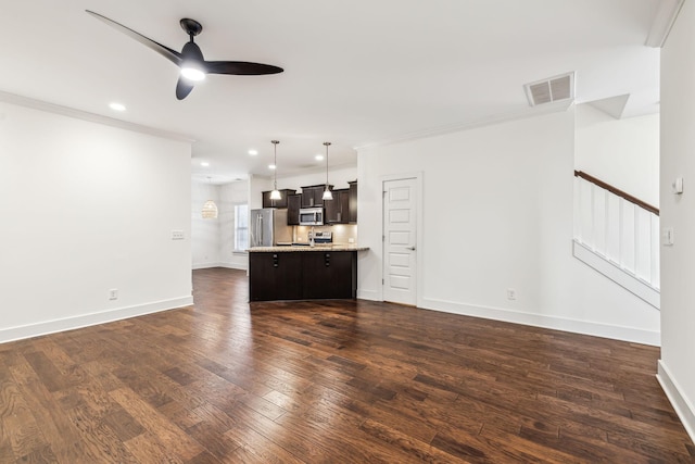
[[[383,299],[417,303],[417,183],[383,183]]]

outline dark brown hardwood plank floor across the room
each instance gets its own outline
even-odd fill
[[[0,462],[695,462],[657,348],[193,277],[194,308],[0,344]]]

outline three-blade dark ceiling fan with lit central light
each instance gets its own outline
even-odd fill
[[[176,84],[176,98],[179,100],[184,100],[188,97],[191,90],[193,90],[194,83],[204,79],[206,74],[258,76],[263,74],[278,74],[285,71],[281,67],[273,66],[270,64],[250,63],[247,61],[205,61],[203,52],[200,51],[200,47],[193,42],[193,37],[203,30],[203,26],[201,26],[201,24],[195,20],[185,17],[179,22],[181,28],[186,30],[186,34],[188,34],[190,38],[179,53],[176,50],[172,50],[162,43],[144,37],[142,34],[136,33],[123,24],[118,24],[115,21],[108,18],[106,16],[102,16],[93,11],[85,11],[130,38],[136,39],[149,49],[154,50],[180,67],[181,73],[178,78],[178,83]]]

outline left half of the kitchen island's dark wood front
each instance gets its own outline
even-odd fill
[[[302,254],[249,253],[250,300],[300,300]]]

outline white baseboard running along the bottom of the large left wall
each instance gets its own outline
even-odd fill
[[[128,317],[141,316],[143,314],[156,313],[160,311],[173,310],[193,304],[193,297],[174,298],[170,300],[154,301],[136,306],[118,308],[115,310],[102,311],[99,313],[83,314],[63,319],[45,321],[36,324],[28,324],[20,327],[0,329],[0,343],[24,338],[38,337],[41,335],[54,334],[56,331],[72,330],[80,327],[88,327],[97,324],[110,323],[113,321],[126,319]]]

